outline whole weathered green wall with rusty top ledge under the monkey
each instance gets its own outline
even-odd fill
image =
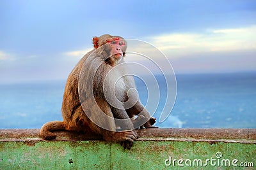
[[[56,131],[57,138],[46,141],[40,138],[39,131],[0,129],[0,169],[255,169],[256,166],[256,129],[140,129],[137,130],[140,138],[131,150],[124,150],[120,143],[102,141],[100,136],[67,131]]]

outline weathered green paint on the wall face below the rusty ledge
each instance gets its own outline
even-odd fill
[[[162,129],[154,131],[157,134]],[[168,135],[168,138],[163,138],[161,134],[158,134],[160,137],[152,138],[154,135],[148,136],[147,132],[151,133],[152,130],[141,131],[142,137],[134,142],[131,150],[124,150],[118,143],[100,140],[44,141],[29,132],[22,132],[21,136],[13,134],[10,138],[8,134],[12,133],[0,131],[2,134],[0,169],[255,169],[256,167],[254,139],[234,140],[226,137],[225,140],[174,139],[169,138]],[[253,130],[252,134],[254,132]],[[6,134],[6,139],[3,138],[3,134]],[[222,153],[220,159],[216,158],[218,152]],[[181,167],[178,166],[177,161],[175,166],[166,166],[170,163],[166,159],[170,157],[172,160],[189,159],[192,162],[200,159],[203,165],[207,159],[216,159],[216,163],[218,161],[221,163],[223,159],[230,161],[237,159],[237,165],[241,162],[252,162],[253,167],[221,166],[221,164],[211,166],[210,162],[207,166],[186,166],[183,162],[185,167]]]

